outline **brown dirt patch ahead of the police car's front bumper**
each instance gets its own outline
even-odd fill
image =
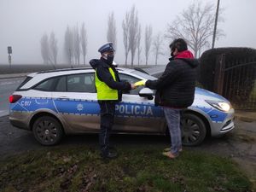
[[[208,139],[200,148],[212,154],[220,154],[236,161],[256,189],[256,121],[236,119],[236,129],[224,137]]]

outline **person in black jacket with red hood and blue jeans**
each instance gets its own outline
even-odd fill
[[[165,72],[160,79],[148,80],[145,85],[157,90],[154,102],[164,109],[172,140],[171,149],[163,154],[173,159],[182,150],[180,111],[194,101],[195,67],[198,62],[182,38],[175,39],[170,44],[170,49],[172,58],[169,59]]]

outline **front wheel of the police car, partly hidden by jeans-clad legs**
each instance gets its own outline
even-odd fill
[[[207,136],[207,128],[203,120],[193,113],[183,113],[181,117],[183,146],[201,144]]]

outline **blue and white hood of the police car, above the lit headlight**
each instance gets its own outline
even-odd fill
[[[223,96],[218,95],[217,93],[213,93],[209,90],[204,90],[198,87],[195,88],[195,97],[203,100],[208,99],[229,102],[227,99],[225,99]]]

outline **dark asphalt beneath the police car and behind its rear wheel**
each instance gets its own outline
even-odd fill
[[[169,139],[165,136],[143,136],[143,135],[113,135],[111,143],[131,145],[169,145]],[[67,145],[90,145],[98,146],[98,134],[70,135],[63,137],[60,146]],[[39,144],[33,137],[32,131],[15,128],[9,123],[9,116],[0,117],[0,160],[12,154],[19,154],[45,147]]]

